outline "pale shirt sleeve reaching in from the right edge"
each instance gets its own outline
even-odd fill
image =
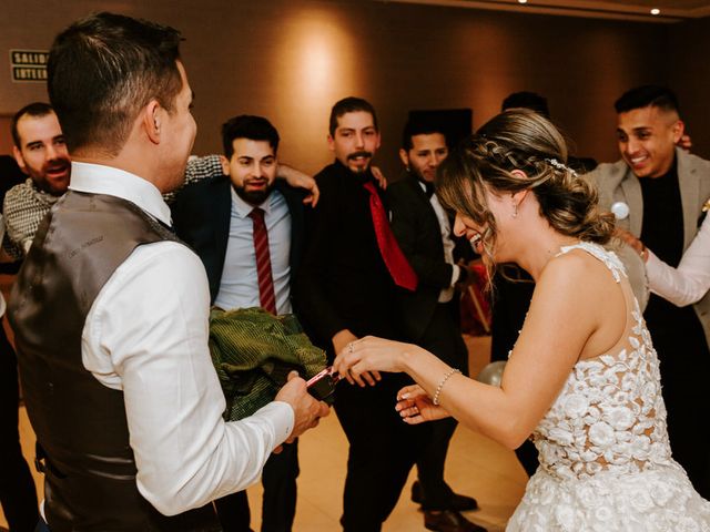
[[[710,216],[706,216],[678,268],[649,249],[646,273],[650,290],[673,305],[684,307],[700,300],[710,288]]]

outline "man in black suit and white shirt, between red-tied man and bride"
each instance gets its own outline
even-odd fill
[[[434,177],[448,155],[440,127],[423,121],[407,122],[399,156],[406,167],[402,180],[387,188],[392,229],[418,277],[414,291],[399,294],[398,313],[409,340],[468,374],[468,350],[459,326],[459,291],[470,276],[459,260],[474,258],[465,238],[452,235],[449,214],[434,194]],[[444,463],[456,420],[432,423],[432,436],[417,460],[418,482],[412,498],[422,502],[428,530],[483,530],[460,514],[478,505],[458,495],[444,481]]]

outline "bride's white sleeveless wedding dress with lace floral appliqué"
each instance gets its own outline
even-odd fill
[[[577,248],[621,284],[626,331],[607,354],[575,365],[535,429],[540,467],[506,530],[710,531],[710,502],[671,458],[658,358],[623,267],[596,244],[560,254]]]

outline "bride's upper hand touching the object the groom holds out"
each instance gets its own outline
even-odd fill
[[[402,355],[410,349],[419,348],[409,344],[366,336],[348,342],[335,357],[333,368],[348,382],[365,386],[365,376],[371,372],[403,371]]]

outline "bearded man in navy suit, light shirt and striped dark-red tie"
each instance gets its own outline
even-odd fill
[[[304,193],[276,180],[278,133],[261,116],[236,116],[222,126],[224,175],[195,183],[172,206],[178,235],[202,259],[211,304],[221,308],[263,307],[288,314],[291,282],[304,242]],[[255,247],[261,211],[270,265]],[[262,241],[263,242],[263,241]],[[271,287],[263,270],[270,266]],[[264,293],[266,290],[266,294]],[[297,441],[272,454],[264,467],[262,531],[284,532],[293,525],[298,475]],[[250,530],[246,492],[216,501],[226,532]]]

